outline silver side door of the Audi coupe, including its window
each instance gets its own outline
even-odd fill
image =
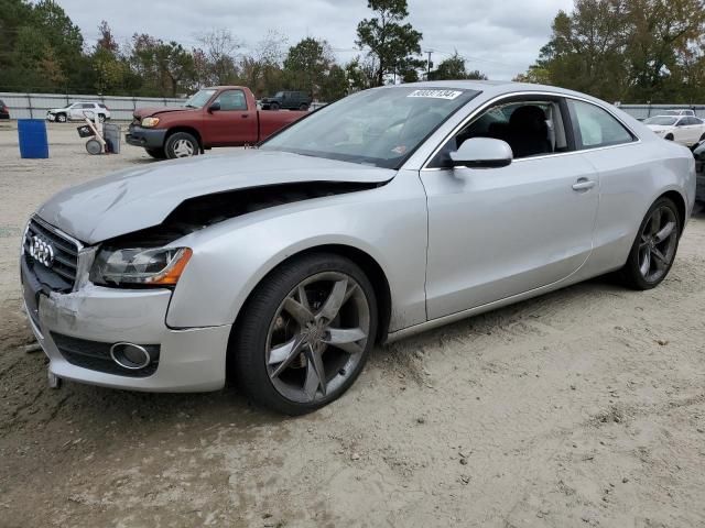
[[[513,99],[492,107],[476,121],[494,121],[494,127],[476,136],[506,129],[508,123],[497,123],[496,117],[530,102]],[[554,103],[563,112],[546,123],[549,142],[551,134],[558,136],[547,150],[562,152],[528,155],[501,168],[452,168],[440,162],[421,170],[429,208],[429,319],[556,283],[589,256],[598,175],[572,141],[566,143],[568,112],[564,103]]]

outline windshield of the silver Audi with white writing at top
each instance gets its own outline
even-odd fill
[[[262,148],[398,168],[478,94],[411,87],[362,91],[312,113],[272,136]]]

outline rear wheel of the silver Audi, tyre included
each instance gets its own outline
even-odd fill
[[[651,289],[661,284],[673,265],[681,227],[682,220],[673,200],[660,198],[651,206],[621,270],[628,286]]]

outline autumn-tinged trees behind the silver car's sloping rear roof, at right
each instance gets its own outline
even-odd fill
[[[705,1],[575,0],[517,80],[608,101],[705,103]]]

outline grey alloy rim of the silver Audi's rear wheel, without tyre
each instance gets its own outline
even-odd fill
[[[649,283],[655,283],[669,271],[677,245],[677,219],[668,206],[651,213],[639,240],[639,272]]]

